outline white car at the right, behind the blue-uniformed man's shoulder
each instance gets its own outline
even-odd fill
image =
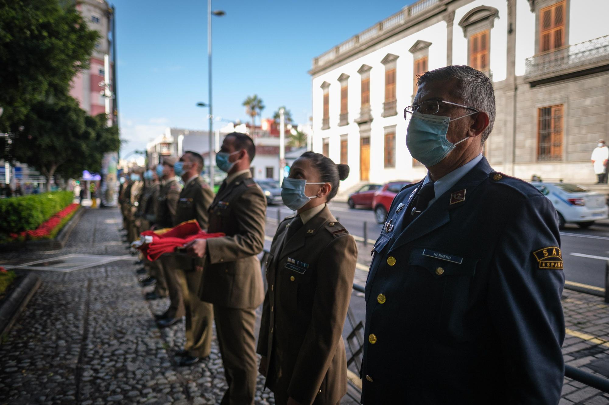
[[[568,222],[587,228],[594,224],[594,221],[606,220],[609,217],[606,197],[589,192],[581,185],[537,181],[531,184],[554,204],[560,228]]]

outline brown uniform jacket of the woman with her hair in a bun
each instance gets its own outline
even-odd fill
[[[351,298],[357,246],[328,207],[285,240],[278,227],[267,260],[258,353],[266,384],[303,405],[337,404],[347,392],[343,324]]]

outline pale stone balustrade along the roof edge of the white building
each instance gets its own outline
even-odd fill
[[[359,34],[352,36],[342,44],[339,44],[333,49],[330,49],[327,52],[324,52],[323,54],[319,55],[319,57],[314,58],[312,68],[316,69],[317,67],[323,66],[335,60],[340,55],[343,55],[364,43],[375,40],[376,38],[387,32],[387,30],[391,30],[396,26],[407,24],[410,19],[416,18],[418,14],[428,9],[431,9],[435,5],[443,2],[445,2],[445,0],[420,0],[415,4],[409,5],[408,7],[404,7],[399,12],[390,16],[389,18],[385,18],[383,21],[379,22],[375,26],[372,26],[367,30],[360,32]]]

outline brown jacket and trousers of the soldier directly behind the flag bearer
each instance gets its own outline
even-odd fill
[[[188,182],[180,193],[175,225],[197,220],[201,229],[207,229],[209,204],[214,193],[197,176]],[[184,350],[195,357],[207,357],[211,351],[213,308],[199,298],[202,271],[195,269],[195,259],[183,254],[174,255],[174,268],[180,281],[186,310],[186,345]]]

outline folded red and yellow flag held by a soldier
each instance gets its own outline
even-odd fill
[[[201,229],[195,220],[183,222],[172,228],[158,230],[145,230],[138,241],[133,242],[136,247],[150,261],[155,261],[161,255],[175,252],[176,247],[182,247],[195,239],[209,239],[223,237],[225,234],[217,232],[208,234]]]

